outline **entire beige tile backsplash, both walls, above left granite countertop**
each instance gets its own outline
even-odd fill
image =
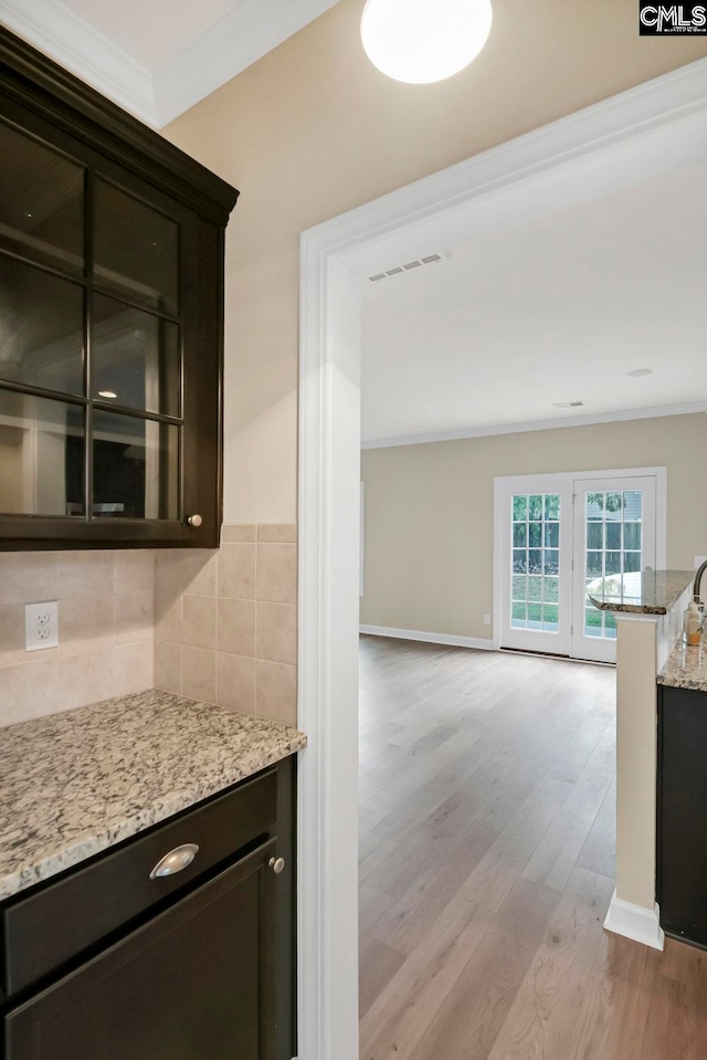
[[[0,726],[158,688],[295,724],[297,528],[228,524],[221,548],[0,553]],[[59,648],[24,605],[59,601]]]

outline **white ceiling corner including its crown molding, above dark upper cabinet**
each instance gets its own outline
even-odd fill
[[[0,22],[162,128],[338,0],[0,0]]]

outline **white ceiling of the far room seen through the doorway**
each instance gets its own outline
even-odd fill
[[[707,408],[705,187],[693,166],[371,285],[365,441]]]

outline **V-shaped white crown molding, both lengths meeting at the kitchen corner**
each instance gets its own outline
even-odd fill
[[[0,0],[0,21],[152,128],[163,128],[338,0],[243,0],[159,70],[60,0]]]

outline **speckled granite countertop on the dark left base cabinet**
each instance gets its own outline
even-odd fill
[[[0,731],[0,899],[122,842],[307,744],[167,692]]]

